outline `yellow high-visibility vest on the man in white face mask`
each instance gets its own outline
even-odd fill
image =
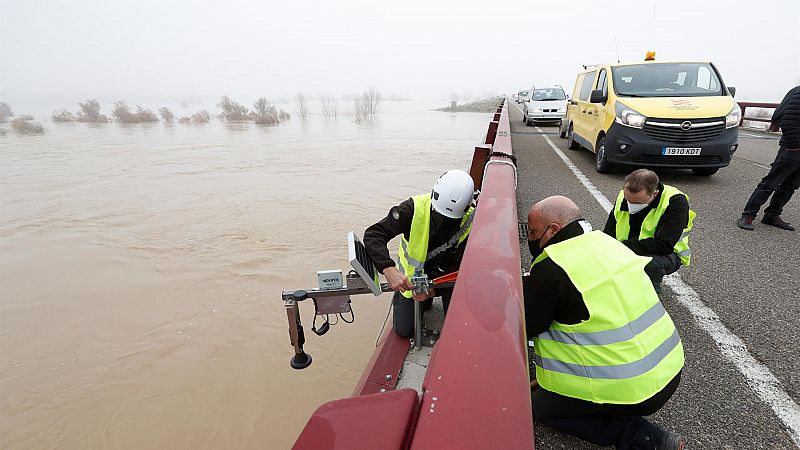
[[[639,230],[640,240],[649,239],[655,236],[658,223],[661,220],[661,217],[664,215],[664,212],[667,210],[670,199],[672,199],[672,197],[675,195],[683,195],[686,197],[686,201],[689,201],[689,196],[677,188],[665,184],[664,191],[661,193],[661,200],[659,200],[658,205],[652,208],[642,221],[642,227]],[[617,195],[617,202],[614,204],[614,219],[617,221],[616,236],[617,240],[619,241],[628,239],[628,235],[631,231],[631,215],[628,211],[622,211],[622,201],[624,199],[624,191],[620,191],[619,195]],[[683,229],[681,237],[678,239],[678,242],[675,243],[675,247],[673,248],[675,254],[677,254],[680,258],[681,264],[687,267],[692,260],[692,251],[689,249],[689,234],[692,232],[695,216],[695,212],[690,209],[689,222],[687,223],[686,228]]]

